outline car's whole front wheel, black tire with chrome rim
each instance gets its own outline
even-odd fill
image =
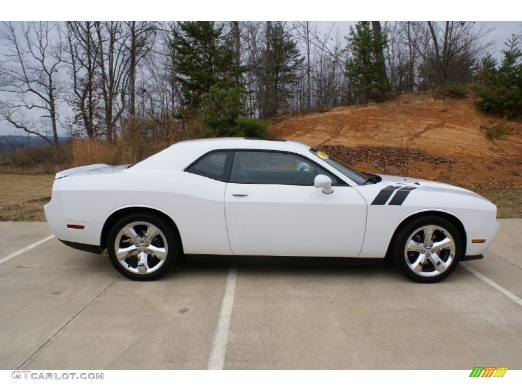
[[[413,281],[436,283],[455,271],[462,248],[452,223],[438,216],[421,216],[399,227],[390,244],[390,257]]]

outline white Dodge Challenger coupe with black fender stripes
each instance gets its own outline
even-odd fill
[[[479,259],[499,231],[496,206],[427,180],[362,174],[293,141],[183,141],[135,165],[56,174],[44,206],[65,245],[100,254],[136,280],[192,255],[386,257],[417,282]],[[295,258],[292,258],[295,259]]]

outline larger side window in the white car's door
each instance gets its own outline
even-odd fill
[[[230,181],[313,186],[314,178],[319,174],[329,176],[332,184],[337,185],[335,177],[302,156],[281,152],[238,151],[232,163]]]

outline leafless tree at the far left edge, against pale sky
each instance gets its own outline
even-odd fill
[[[0,118],[15,128],[58,143],[58,73],[64,65],[65,43],[57,23],[22,22],[21,34],[3,22],[0,41]]]

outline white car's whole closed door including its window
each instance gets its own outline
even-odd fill
[[[333,193],[314,187],[318,174]],[[235,255],[355,257],[362,247],[364,199],[301,155],[236,151],[224,204]]]

